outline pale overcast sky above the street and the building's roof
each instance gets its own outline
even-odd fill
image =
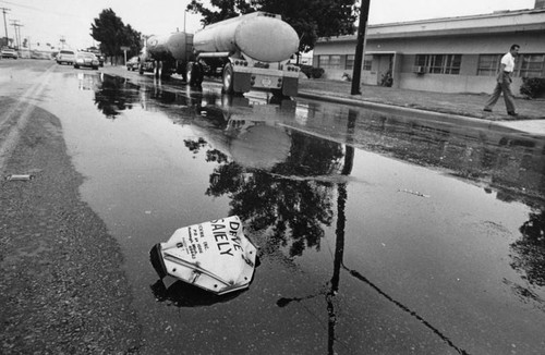
[[[294,0],[296,1],[296,0]],[[90,24],[104,9],[112,9],[125,25],[143,35],[166,35],[177,29],[195,33],[201,16],[184,13],[190,0],[0,0],[7,8],[8,37],[13,23],[20,24],[21,38],[31,44],[66,45],[82,49],[97,45],[90,37]],[[437,17],[486,14],[500,10],[533,9],[535,0],[371,0],[368,24],[385,24]],[[1,14],[1,9],[0,9]],[[185,24],[184,24],[185,22]],[[0,37],[4,34],[0,16]]]

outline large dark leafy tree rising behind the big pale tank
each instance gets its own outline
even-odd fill
[[[302,52],[312,50],[319,37],[353,34],[358,17],[355,0],[210,0],[213,9],[203,2],[192,0],[187,5],[189,11],[203,16],[203,25],[254,11],[280,14],[296,30]]]

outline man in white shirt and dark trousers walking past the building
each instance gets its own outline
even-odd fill
[[[504,100],[506,101],[507,114],[517,115],[514,108],[514,97],[511,91],[511,75],[514,70],[514,58],[519,54],[519,45],[512,45],[508,53],[501,57],[501,64],[499,66],[499,73],[496,77],[496,87],[494,93],[492,93],[491,98],[486,101],[484,106],[484,111],[492,112],[492,108],[499,99],[501,93],[504,93]]]

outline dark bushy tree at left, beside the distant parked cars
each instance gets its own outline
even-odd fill
[[[109,57],[121,56],[121,46],[137,53],[141,48],[141,33],[125,25],[111,9],[105,9],[90,24],[90,36],[100,42],[100,50]]]

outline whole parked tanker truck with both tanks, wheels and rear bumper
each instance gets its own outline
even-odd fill
[[[225,93],[263,88],[296,96],[300,69],[289,61],[298,48],[296,32],[279,15],[254,12],[208,25],[194,36],[150,37],[144,53],[162,61],[164,73],[166,66],[181,73],[185,64],[191,85],[219,71]]]

